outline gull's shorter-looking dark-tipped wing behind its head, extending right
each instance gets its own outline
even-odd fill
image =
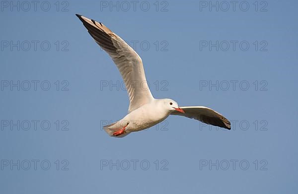
[[[180,113],[178,111],[172,112],[171,115],[185,116],[191,119],[199,120],[203,123],[209,125],[218,126],[225,129],[231,129],[231,123],[224,118],[223,115],[215,112],[214,110],[203,107],[203,106],[193,106],[193,107],[180,107],[185,113]]]

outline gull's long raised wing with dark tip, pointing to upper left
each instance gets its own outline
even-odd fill
[[[147,84],[145,71],[140,56],[117,34],[102,23],[82,15],[76,16],[83,22],[95,42],[106,51],[117,65],[127,88],[132,112],[149,103],[153,96]]]

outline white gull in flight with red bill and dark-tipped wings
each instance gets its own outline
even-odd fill
[[[117,34],[100,22],[82,15],[83,22],[95,42],[106,51],[117,65],[125,82],[130,104],[128,114],[121,120],[104,126],[114,137],[124,137],[131,132],[152,127],[169,115],[181,115],[203,123],[230,129],[230,122],[223,115],[203,106],[179,107],[172,99],[153,98],[140,56]]]

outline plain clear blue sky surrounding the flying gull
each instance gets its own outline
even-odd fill
[[[298,192],[296,0],[29,3],[0,7],[1,194]],[[170,116],[108,136],[127,92],[75,13],[136,43],[155,98],[232,129]]]

